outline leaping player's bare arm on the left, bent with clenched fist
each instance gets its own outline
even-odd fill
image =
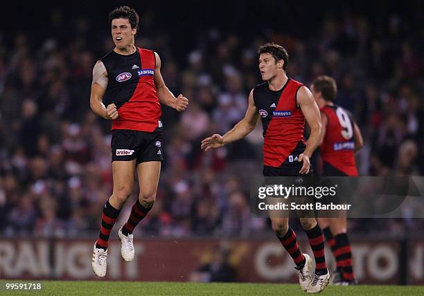
[[[118,118],[118,111],[115,104],[107,107],[103,104],[103,96],[107,88],[107,71],[105,64],[98,61],[93,68],[93,82],[91,83],[90,107],[102,118],[112,120]]]

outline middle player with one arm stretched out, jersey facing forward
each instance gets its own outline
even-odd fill
[[[263,123],[264,176],[305,176],[310,174],[310,156],[317,148],[321,130],[319,109],[310,90],[286,74],[288,54],[274,43],[258,49],[259,70],[265,81],[251,90],[245,118],[231,131],[215,134],[202,140],[205,151],[219,148],[247,136],[258,121]],[[307,145],[303,139],[305,120],[311,133]],[[324,257],[324,235],[315,218],[300,218],[315,257],[299,250],[296,234],[288,225],[288,218],[271,217],[272,229],[296,263],[301,289],[319,293],[328,284],[330,275]]]

